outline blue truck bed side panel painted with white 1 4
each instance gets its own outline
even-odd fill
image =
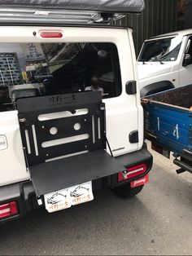
[[[172,148],[173,152],[192,148],[190,111],[151,103],[146,107],[145,118],[146,133],[155,135],[159,143]]]

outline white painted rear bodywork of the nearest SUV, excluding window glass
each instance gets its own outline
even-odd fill
[[[34,36],[33,32],[37,35]],[[63,38],[41,38],[41,31],[60,31]],[[127,95],[125,84],[137,81],[131,29],[72,27],[0,27],[0,43],[12,42],[113,42],[116,44],[122,82],[122,94],[103,99],[106,104],[107,139],[114,156],[137,151],[143,144],[143,111],[139,94]],[[0,44],[1,46],[1,44]],[[138,91],[138,87],[137,87]],[[138,130],[139,143],[129,143],[129,133]],[[30,179],[24,161],[17,111],[0,113],[0,135],[7,137],[8,148],[0,151],[0,186]]]

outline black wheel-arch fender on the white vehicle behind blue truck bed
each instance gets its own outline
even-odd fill
[[[174,87],[175,86],[173,86],[172,82],[170,81],[154,82],[148,86],[142,87],[142,89],[140,90],[140,95],[141,95],[141,98],[143,98],[144,96],[153,95],[157,92],[160,92],[163,90],[169,90]]]

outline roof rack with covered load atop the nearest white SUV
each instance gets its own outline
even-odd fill
[[[0,24],[111,24],[144,6],[144,0],[1,0]]]

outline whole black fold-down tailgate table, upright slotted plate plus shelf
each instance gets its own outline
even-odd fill
[[[125,170],[105,150],[100,92],[18,99],[17,108],[37,196]]]

